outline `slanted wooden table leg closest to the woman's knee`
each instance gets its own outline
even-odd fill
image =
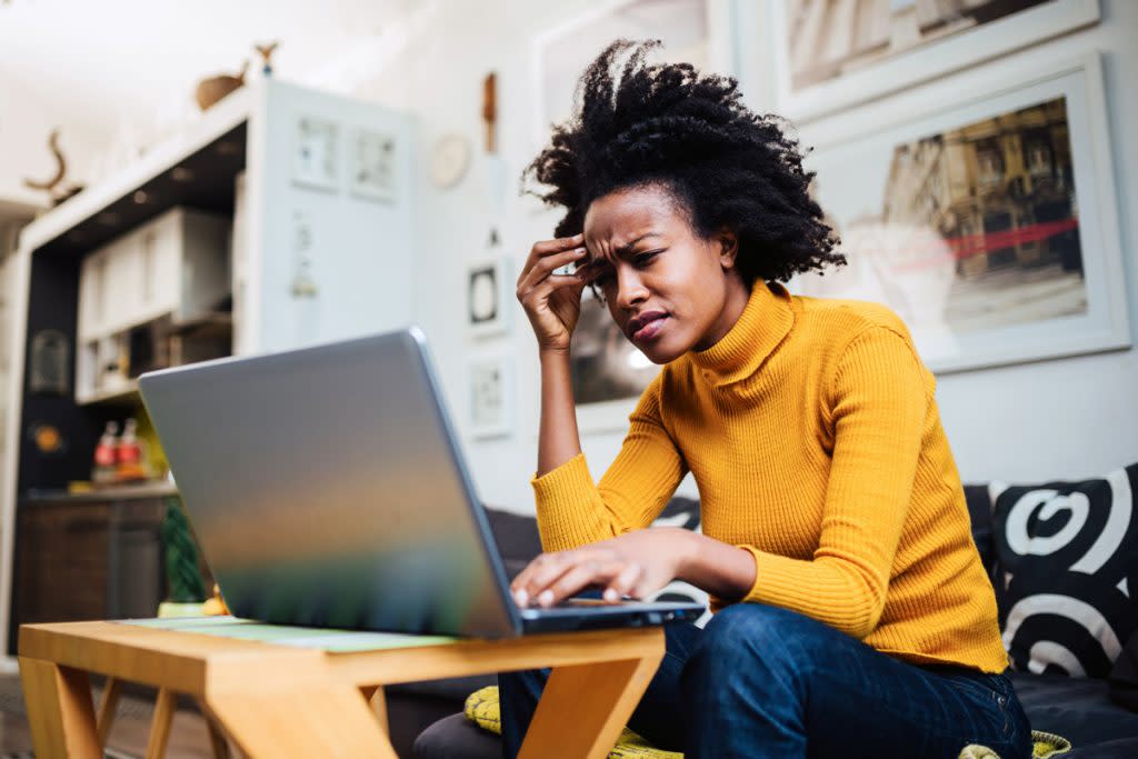
[[[558,667],[545,684],[520,759],[604,759],[648,690],[662,653]]]

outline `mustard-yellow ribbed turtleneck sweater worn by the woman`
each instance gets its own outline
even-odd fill
[[[691,471],[703,534],[754,555],[744,602],[917,663],[999,673],[934,380],[882,306],[756,282],[742,316],[644,390],[599,485],[584,456],[533,481],[546,551],[652,523]]]

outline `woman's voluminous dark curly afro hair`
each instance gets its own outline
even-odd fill
[[[802,170],[784,122],[751,113],[732,77],[645,63],[659,46],[610,44],[582,76],[574,116],[553,127],[551,143],[523,172],[523,184],[533,176],[550,188],[529,195],[566,209],[554,234],[579,233],[596,198],[655,184],[679,201],[700,237],[725,226],[735,233],[736,267],[748,283],[844,264],[810,198],[814,174]]]

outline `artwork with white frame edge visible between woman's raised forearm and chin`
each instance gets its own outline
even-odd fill
[[[660,368],[628,341],[589,290],[582,298],[570,356],[580,431],[627,429],[628,414]]]

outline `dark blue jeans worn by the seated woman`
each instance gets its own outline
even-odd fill
[[[1031,756],[1028,719],[1003,675],[910,665],[754,603],[724,609],[706,629],[670,625],[666,635],[667,653],[628,726],[685,759],[956,759],[970,743],[1001,759]],[[547,676],[498,675],[503,757],[517,756]]]

